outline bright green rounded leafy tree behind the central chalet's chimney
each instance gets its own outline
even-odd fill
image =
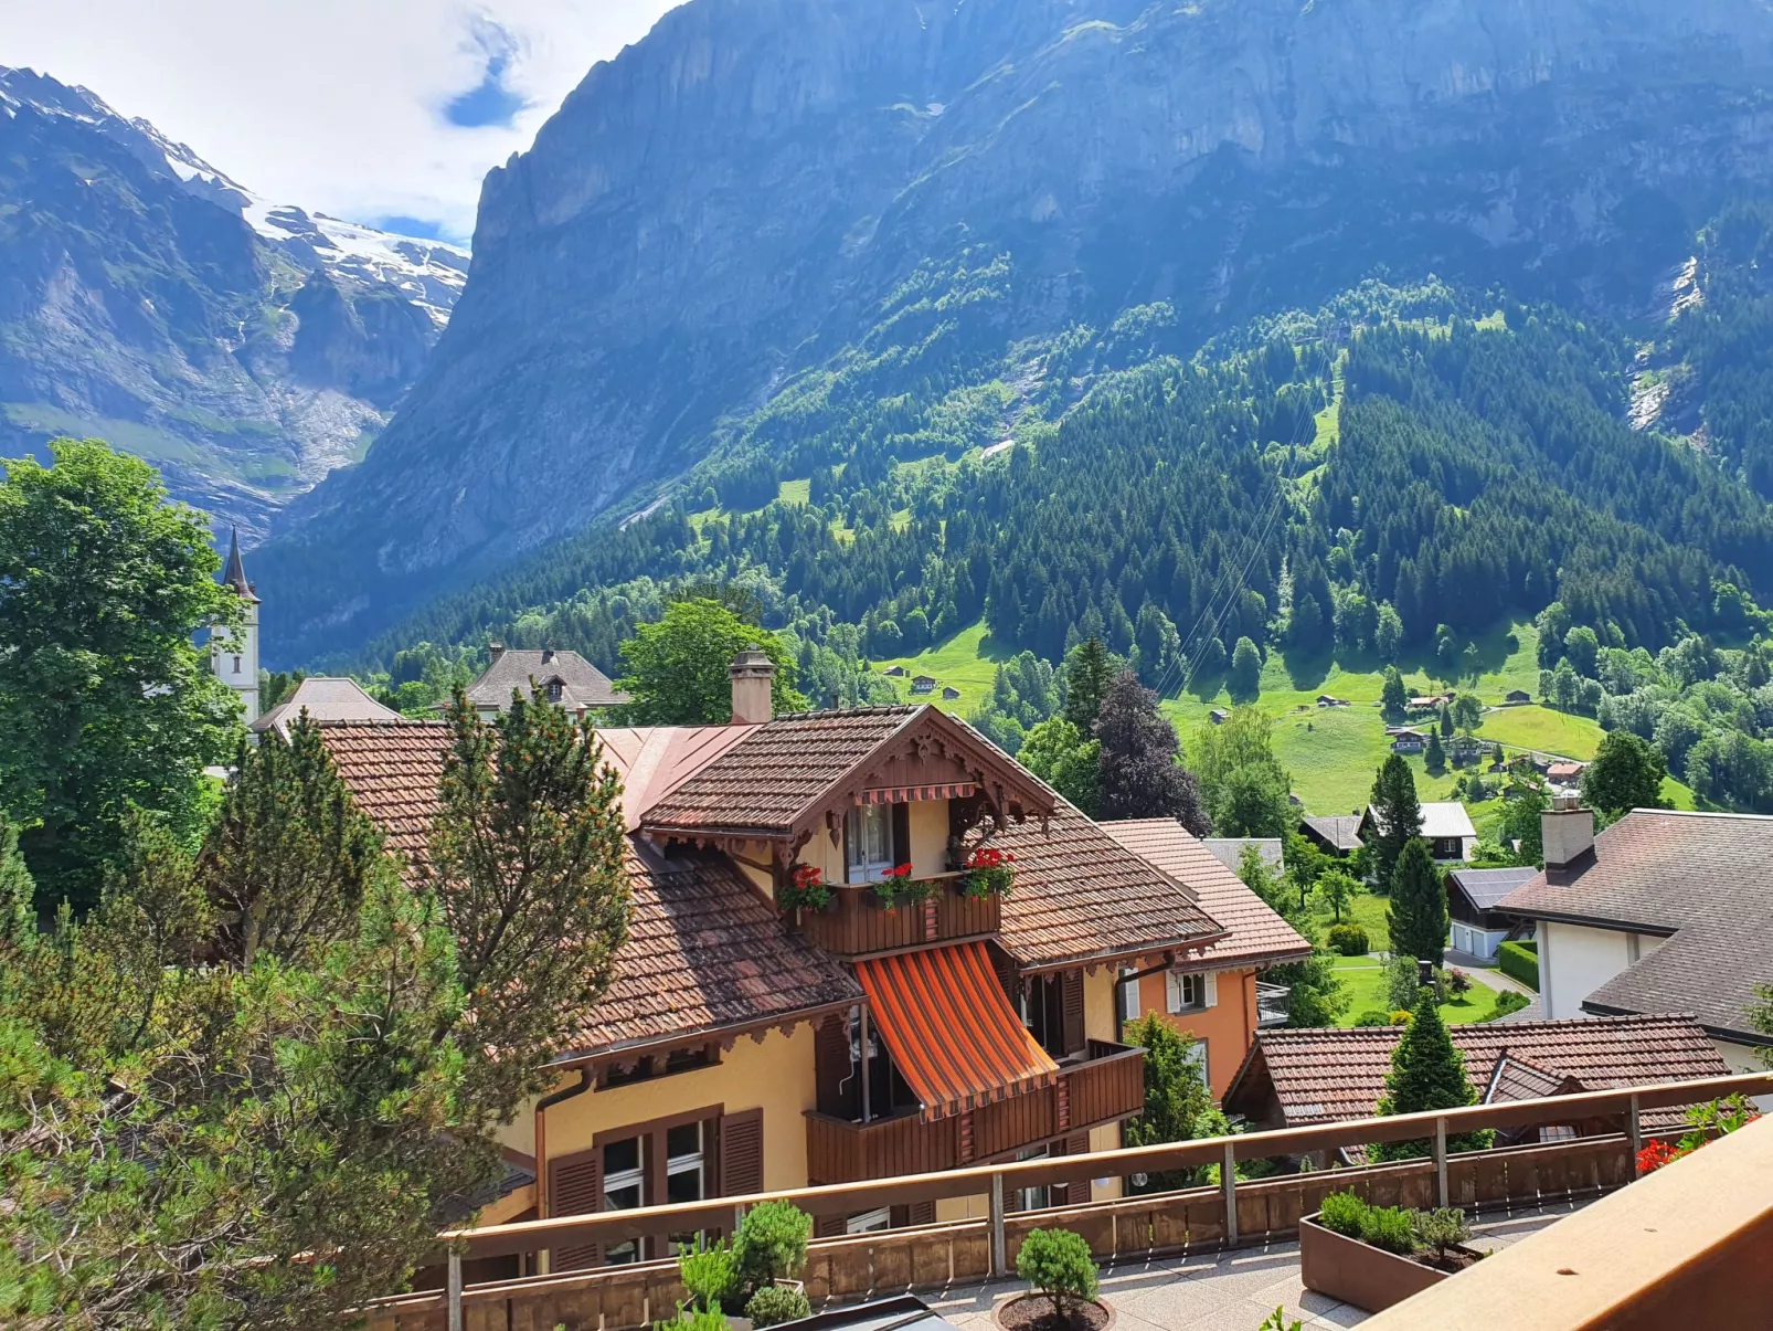
[[[665,607],[658,623],[635,625],[622,642],[628,673],[617,681],[631,701],[621,708],[629,726],[720,726],[732,721],[732,678],[727,667],[746,648],[771,664],[769,703],[780,715],[805,712],[796,692],[794,662],[775,634],[745,623],[715,600],[681,600]]]

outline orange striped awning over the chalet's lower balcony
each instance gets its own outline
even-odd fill
[[[982,942],[856,962],[856,978],[924,1118],[1058,1081],[1058,1065],[1004,997]]]

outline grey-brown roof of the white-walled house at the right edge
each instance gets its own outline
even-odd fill
[[[1773,818],[1635,809],[1594,854],[1534,875],[1502,909],[1532,919],[1672,935],[1583,999],[1594,1012],[1691,1012],[1706,1029],[1748,1029],[1757,985],[1773,983]]]

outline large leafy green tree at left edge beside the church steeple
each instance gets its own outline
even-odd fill
[[[0,483],[0,807],[39,905],[87,910],[131,807],[202,834],[202,770],[239,703],[195,634],[243,607],[215,580],[207,522],[152,467],[99,440],[50,449],[51,467],[12,460]]]

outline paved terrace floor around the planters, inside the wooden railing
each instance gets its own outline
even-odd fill
[[[1583,1205],[1562,1201],[1491,1212],[1472,1225],[1472,1246],[1507,1248]],[[941,1296],[926,1294],[924,1301],[961,1331],[995,1331],[993,1304],[1023,1288],[1018,1281],[989,1281]],[[1115,1310],[1113,1331],[1257,1331],[1275,1308],[1285,1308],[1289,1324],[1298,1319],[1305,1331],[1367,1320],[1360,1308],[1300,1283],[1296,1242],[1119,1265],[1103,1271],[1103,1297]]]

